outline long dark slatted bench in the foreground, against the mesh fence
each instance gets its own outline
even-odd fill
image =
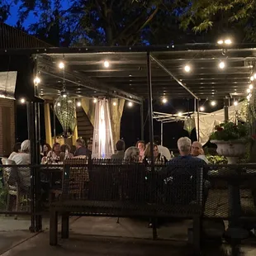
[[[150,172],[143,164],[99,165],[88,164],[85,159],[69,159],[64,163],[62,197],[50,206],[50,245],[58,243],[59,215],[64,239],[69,238],[69,216],[143,216],[152,220],[171,217],[193,220],[193,244],[199,251],[201,175],[194,179],[195,197],[186,204],[180,198],[176,202],[168,200],[175,194],[170,179],[167,182],[168,175],[166,171]],[[156,239],[155,226],[153,237]]]

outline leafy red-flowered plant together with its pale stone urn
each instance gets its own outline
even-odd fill
[[[248,124],[224,122],[215,127],[210,135],[211,143],[217,145],[217,153],[228,159],[228,164],[236,164],[239,156],[245,154],[249,141]]]

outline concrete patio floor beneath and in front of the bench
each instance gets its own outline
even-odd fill
[[[159,240],[152,240],[152,230],[146,220],[107,217],[71,217],[70,238],[59,239],[59,245],[49,245],[49,220],[44,220],[45,231],[28,231],[29,219],[13,220],[0,217],[0,255],[4,256],[68,256],[68,255],[192,255],[187,245],[190,221],[178,221],[158,230]],[[5,229],[5,230],[4,230]],[[230,255],[227,245],[204,244],[203,255]],[[243,254],[256,255],[256,246],[244,245]]]

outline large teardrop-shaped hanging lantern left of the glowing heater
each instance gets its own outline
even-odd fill
[[[62,92],[55,102],[55,114],[64,131],[64,137],[67,137],[69,131],[73,131],[76,126],[75,100],[69,97],[67,92]]]

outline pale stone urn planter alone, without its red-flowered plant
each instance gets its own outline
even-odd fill
[[[217,145],[217,153],[228,159],[228,164],[236,164],[239,157],[246,153],[245,140],[211,140]]]

